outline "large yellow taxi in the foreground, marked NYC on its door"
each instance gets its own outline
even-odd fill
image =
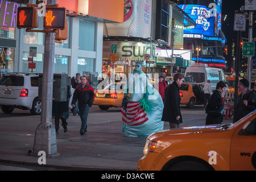
[[[183,127],[147,137],[137,169],[256,170],[256,110],[234,124]]]

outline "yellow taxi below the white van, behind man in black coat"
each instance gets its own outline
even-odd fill
[[[180,104],[193,108],[195,104],[204,104],[204,85],[183,83],[180,85]]]

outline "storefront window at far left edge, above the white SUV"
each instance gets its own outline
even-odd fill
[[[14,69],[14,48],[0,47],[0,69]]]

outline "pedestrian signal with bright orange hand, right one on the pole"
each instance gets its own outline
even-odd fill
[[[64,29],[66,22],[65,7],[46,7],[43,27],[47,29]]]

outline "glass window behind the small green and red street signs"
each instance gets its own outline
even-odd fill
[[[30,53],[23,52],[23,65],[22,72],[24,73],[43,73],[43,54],[36,53],[36,57],[33,57],[33,63],[36,63],[36,69],[28,69],[28,63],[32,63],[28,61]]]

